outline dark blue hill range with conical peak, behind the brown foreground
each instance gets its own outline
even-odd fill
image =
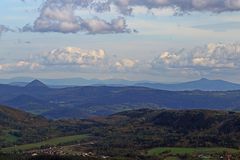
[[[24,87],[0,85],[0,104],[49,118],[86,118],[139,108],[240,109],[240,90],[166,91],[146,87],[50,88],[34,80]]]

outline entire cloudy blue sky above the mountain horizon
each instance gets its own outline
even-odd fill
[[[1,0],[1,78],[240,83],[240,0]]]

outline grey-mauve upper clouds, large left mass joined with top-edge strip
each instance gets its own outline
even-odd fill
[[[131,33],[126,16],[133,16],[136,7],[147,10],[172,8],[176,15],[190,12],[233,12],[240,11],[240,0],[46,0],[40,8],[40,15],[33,25],[25,25],[21,31],[60,32],[87,34]],[[112,14],[117,9],[118,16],[105,20],[94,16],[83,18],[76,11],[88,10],[95,13]]]

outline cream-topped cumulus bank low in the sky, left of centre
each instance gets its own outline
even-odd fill
[[[38,55],[35,58],[46,68],[74,68],[85,71],[125,72],[133,71],[138,60],[123,58],[118,59],[108,55],[105,50],[83,50],[77,47],[66,47]],[[59,68],[58,68],[59,69]]]

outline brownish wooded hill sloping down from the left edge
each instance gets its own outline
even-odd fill
[[[41,140],[47,136],[48,132],[44,133],[47,127],[49,121],[41,116],[0,106],[0,148]],[[42,134],[41,137],[39,133]]]

